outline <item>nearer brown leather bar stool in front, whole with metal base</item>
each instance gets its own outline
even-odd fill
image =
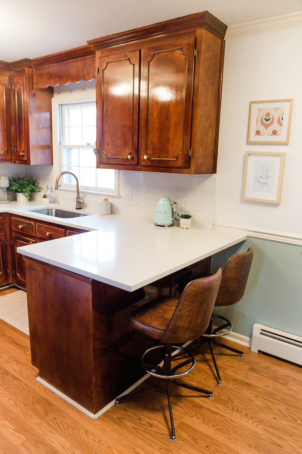
[[[195,366],[195,358],[191,352],[183,347],[173,344],[182,344],[192,341],[201,336],[209,325],[213,312],[216,296],[221,282],[221,269],[213,276],[197,279],[189,282],[185,287],[180,298],[173,296],[160,296],[144,306],[130,312],[130,320],[133,326],[144,334],[161,341],[163,345],[157,345],[147,350],[142,356],[142,365],[148,374],[157,378],[154,383],[145,385],[138,390],[134,390],[115,400],[119,403],[131,396],[149,390],[158,384],[160,380],[166,381],[166,391],[171,420],[172,440],[175,440],[175,428],[173,422],[172,405],[169,392],[169,382],[174,385],[182,386],[190,390],[198,391],[212,397],[212,392],[197,388],[197,386],[187,385],[178,380],[179,377],[186,375]],[[151,365],[146,362],[145,356],[156,349],[163,349],[163,369],[158,365]],[[175,350],[176,349],[176,350]],[[189,359],[182,361],[172,367],[172,350],[181,350],[189,355]],[[177,373],[177,370],[191,364],[187,370]]]

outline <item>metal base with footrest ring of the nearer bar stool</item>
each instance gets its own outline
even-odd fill
[[[163,369],[161,369],[161,367],[156,366],[156,365],[150,365],[150,364],[147,365],[147,363],[144,361],[145,355],[149,351],[155,350],[157,348],[164,348]],[[187,355],[189,355],[190,359],[182,361],[182,363],[177,364],[171,370],[171,360],[173,359],[172,348],[176,348],[177,350],[183,350],[183,352],[185,352],[185,353],[187,353]],[[184,367],[184,366],[186,366],[186,365],[188,365],[190,363],[192,365],[185,372],[181,372],[179,374],[176,374],[176,371],[178,369],[181,369],[182,367]],[[171,404],[170,390],[169,390],[170,382],[174,383],[174,385],[181,386],[182,388],[187,388],[189,390],[193,390],[193,391],[200,392],[202,394],[209,395],[209,398],[213,397],[213,392],[205,390],[203,388],[199,388],[197,386],[187,385],[186,383],[183,383],[182,381],[178,380],[178,377],[181,377],[183,375],[187,375],[187,373],[190,372],[193,369],[193,367],[195,366],[195,358],[194,358],[194,356],[192,355],[192,353],[190,353],[187,349],[185,349],[183,347],[177,347],[175,345],[165,344],[165,345],[158,345],[157,347],[150,348],[142,356],[142,365],[143,365],[144,369],[146,370],[146,372],[148,372],[148,374],[153,375],[154,377],[156,377],[157,380],[155,382],[153,382],[153,383],[150,383],[149,385],[145,385],[145,386],[139,388],[138,390],[130,391],[128,394],[124,394],[124,395],[118,397],[115,400],[115,405],[119,405],[120,402],[122,402],[123,400],[126,400],[129,397],[132,397],[134,395],[141,394],[144,391],[147,391],[147,390],[153,388],[154,386],[156,386],[159,383],[160,380],[166,380],[166,392],[167,392],[169,414],[170,414],[170,421],[171,421],[171,440],[175,441],[176,440],[176,436],[175,436],[175,428],[174,428],[173,413],[172,413],[172,404]]]

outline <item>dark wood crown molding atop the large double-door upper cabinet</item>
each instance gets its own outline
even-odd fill
[[[195,30],[197,28],[206,28],[214,35],[223,39],[227,26],[211,15],[208,11],[190,14],[187,16],[177,17],[175,19],[157,22],[156,24],[146,25],[132,30],[127,30],[114,35],[104,36],[102,38],[91,39],[87,43],[93,49],[103,49],[119,44],[126,44],[140,39],[148,39],[158,35],[181,32],[184,30]]]

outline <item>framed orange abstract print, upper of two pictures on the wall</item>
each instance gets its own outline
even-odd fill
[[[289,143],[293,99],[251,101],[247,143]]]

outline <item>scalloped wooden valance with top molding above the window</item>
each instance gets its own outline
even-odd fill
[[[90,46],[83,46],[33,59],[34,89],[93,79],[96,76],[95,56]]]

